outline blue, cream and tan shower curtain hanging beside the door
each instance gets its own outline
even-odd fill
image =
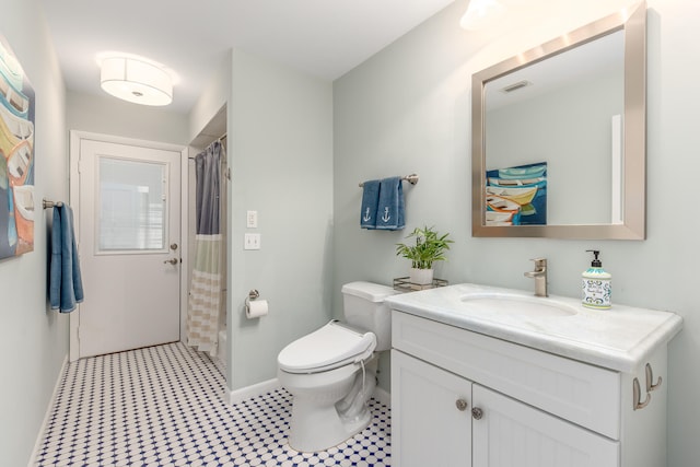
[[[187,310],[187,343],[217,354],[219,315],[222,307],[223,237],[221,221],[221,162],[225,157],[220,141],[195,157],[196,233],[195,266]]]

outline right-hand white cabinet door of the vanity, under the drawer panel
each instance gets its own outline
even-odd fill
[[[617,467],[619,444],[477,384],[474,467]]]

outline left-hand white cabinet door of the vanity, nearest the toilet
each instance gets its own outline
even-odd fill
[[[392,465],[471,465],[471,382],[392,350]]]

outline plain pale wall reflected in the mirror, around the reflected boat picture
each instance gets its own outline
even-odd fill
[[[618,31],[486,84],[486,170],[547,163],[547,224],[620,222],[623,48]]]

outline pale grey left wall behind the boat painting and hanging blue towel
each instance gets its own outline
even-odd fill
[[[36,0],[2,2],[0,34],[36,93],[34,252],[0,261],[0,453],[23,466],[34,448],[68,353],[68,316],[46,299],[47,233],[51,212],[42,198],[68,199],[65,85]]]

